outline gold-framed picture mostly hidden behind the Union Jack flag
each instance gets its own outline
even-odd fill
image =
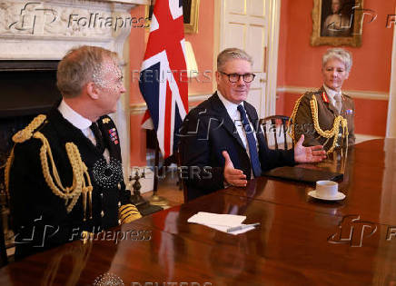
[[[198,33],[198,12],[200,0],[180,0],[183,3],[183,23],[184,33]],[[152,19],[155,0],[150,1],[150,5],[146,6],[146,18]]]

